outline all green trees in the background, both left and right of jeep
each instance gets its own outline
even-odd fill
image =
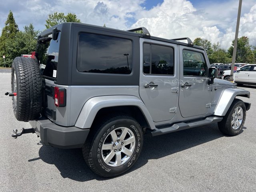
[[[45,27],[46,29],[63,22],[80,22],[76,14],[54,12],[48,15]],[[105,26],[105,24],[104,24]],[[36,50],[37,36],[39,30],[35,30],[33,24],[24,26],[21,31],[15,22],[12,11],[9,12],[5,26],[0,36],[0,67],[4,66],[5,56],[6,67],[12,66],[12,60],[22,54],[30,54]],[[194,44],[203,47],[206,50],[210,63],[231,63],[234,49],[234,40],[228,50],[222,49],[220,43],[212,44],[207,39],[196,38]],[[250,46],[249,38],[242,36],[238,38],[236,51],[237,63],[256,63],[256,46]]]

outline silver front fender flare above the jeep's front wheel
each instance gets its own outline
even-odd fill
[[[220,100],[214,110],[214,115],[225,116],[236,96],[250,98],[250,92],[243,89],[228,88],[222,92]]]

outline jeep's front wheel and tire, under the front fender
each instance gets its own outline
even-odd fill
[[[242,100],[235,99],[221,122],[218,122],[219,130],[229,136],[235,136],[242,132],[246,118],[246,107]]]

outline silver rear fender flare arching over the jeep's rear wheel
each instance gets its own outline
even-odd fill
[[[86,129],[92,126],[94,118],[98,111],[102,108],[115,107],[115,106],[137,106],[144,114],[149,128],[154,129],[155,125],[148,112],[145,104],[136,96],[99,96],[88,99],[79,116],[76,120],[75,126],[78,128]]]

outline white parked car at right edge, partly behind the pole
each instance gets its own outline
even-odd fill
[[[226,70],[223,72],[223,79],[230,79],[231,70]],[[247,64],[236,69],[234,73],[234,79],[237,84],[248,84],[256,85],[256,64]]]

